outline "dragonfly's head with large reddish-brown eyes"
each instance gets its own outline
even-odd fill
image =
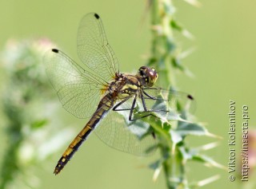
[[[142,66],[138,69],[138,76],[142,77],[142,85],[152,87],[158,80],[158,73],[154,68]]]

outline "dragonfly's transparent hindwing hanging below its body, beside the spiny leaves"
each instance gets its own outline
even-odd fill
[[[157,140],[149,132],[150,125],[142,120],[129,121],[128,114],[129,111],[110,111],[94,132],[112,148],[136,156],[149,156],[157,148]]]

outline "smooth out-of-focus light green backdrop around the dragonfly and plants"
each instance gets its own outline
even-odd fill
[[[206,122],[210,132],[223,137],[221,145],[207,154],[226,166],[229,161],[227,113],[230,100],[235,100],[237,105],[238,149],[241,145],[242,104],[249,106],[250,128],[255,128],[256,2],[201,2],[202,7],[195,8],[186,2],[174,1],[178,11],[176,19],[195,37],[194,41],[189,41],[178,35],[178,44],[182,49],[196,48],[183,61],[195,77],[180,74],[178,88],[194,94],[198,120]],[[144,64],[143,57],[150,53],[150,14],[146,11],[146,1],[10,0],[0,2],[0,7],[1,50],[10,38],[49,37],[70,57],[78,60],[78,23],[84,14],[94,11],[102,17],[106,35],[123,72],[134,72]],[[4,85],[4,78],[1,79],[1,85]],[[61,104],[59,108],[62,108]],[[62,111],[70,123],[77,125],[76,131],[80,131],[86,120],[75,119]],[[0,137],[2,157],[6,141],[2,129]],[[197,146],[215,140],[191,136],[189,141],[191,146]],[[41,188],[166,188],[163,175],[153,183],[153,171],[146,167],[154,156],[138,158],[115,151],[96,136],[90,136],[64,171],[54,176],[52,172],[61,155],[62,151],[56,152],[50,163],[43,166],[44,169],[40,167],[34,173],[42,179]],[[239,154],[237,162],[238,158]],[[229,181],[226,171],[203,167],[199,163],[190,163],[188,168],[190,181],[216,174],[221,175],[221,179],[202,188],[241,188],[237,182]]]

